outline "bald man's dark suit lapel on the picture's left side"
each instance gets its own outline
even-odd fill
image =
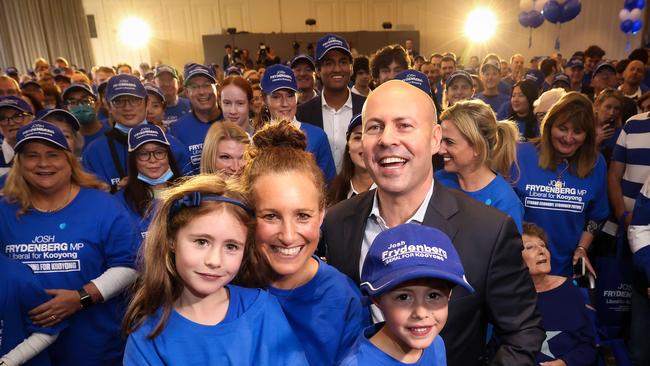
[[[354,273],[353,278],[357,283],[361,281],[359,273],[359,259],[361,258],[361,245],[363,235],[366,229],[366,220],[372,210],[372,202],[375,197],[375,190],[362,193],[359,197],[360,202],[357,209],[346,213],[343,219],[343,240],[346,248],[348,259],[345,261],[345,273]]]

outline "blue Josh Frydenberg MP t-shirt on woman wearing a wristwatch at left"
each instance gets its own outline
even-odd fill
[[[140,244],[135,224],[111,195],[81,188],[55,212],[0,201],[0,252],[32,268],[48,289],[78,290],[112,267],[133,267]],[[50,346],[54,364],[102,365],[122,357],[120,297],[77,311]]]

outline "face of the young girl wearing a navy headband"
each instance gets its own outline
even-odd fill
[[[185,285],[182,298],[204,298],[223,290],[237,275],[247,228],[226,209],[192,219],[176,234],[176,270]]]

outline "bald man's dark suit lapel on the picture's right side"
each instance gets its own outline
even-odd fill
[[[423,224],[443,231],[453,241],[459,228],[451,221],[451,218],[457,212],[458,202],[456,197],[442,184],[435,183]]]

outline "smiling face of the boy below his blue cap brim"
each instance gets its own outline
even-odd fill
[[[408,352],[429,347],[440,333],[447,322],[450,295],[444,281],[416,279],[381,295],[375,304],[384,314],[391,338]]]

